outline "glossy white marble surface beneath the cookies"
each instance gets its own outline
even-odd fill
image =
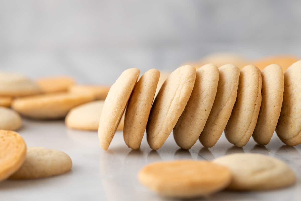
[[[211,160],[235,152],[262,153],[279,158],[296,172],[294,186],[264,192],[222,191],[207,200],[273,200],[301,199],[301,145],[285,146],[274,133],[271,142],[258,146],[251,138],[243,148],[232,146],[222,135],[216,146],[204,148],[197,142],[189,151],[179,149],[172,134],[158,151],[152,151],[144,136],[141,149],[132,151],[117,132],[108,151],[98,145],[97,132],[71,130],[64,121],[24,120],[18,131],[27,146],[58,149],[70,155],[72,171],[67,174],[28,181],[0,183],[0,200],[171,200],[162,198],[137,180],[137,172],[145,164],[175,159]]]

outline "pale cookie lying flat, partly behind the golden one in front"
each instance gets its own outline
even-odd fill
[[[232,173],[231,190],[270,190],[295,183],[293,170],[283,161],[256,153],[235,153],[213,160]]]

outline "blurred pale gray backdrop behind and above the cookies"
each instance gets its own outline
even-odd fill
[[[301,55],[301,1],[0,0],[0,70],[112,84],[213,52]]]

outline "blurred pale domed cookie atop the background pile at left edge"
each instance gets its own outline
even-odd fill
[[[0,73],[0,96],[29,96],[41,93],[32,80],[18,74]]]

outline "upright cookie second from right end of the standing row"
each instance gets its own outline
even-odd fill
[[[267,145],[275,131],[281,111],[284,79],[281,66],[271,64],[261,72],[261,106],[253,132],[255,142]]]

